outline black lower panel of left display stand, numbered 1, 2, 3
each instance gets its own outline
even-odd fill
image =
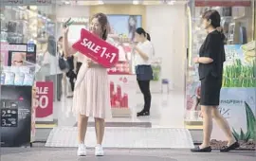
[[[30,145],[32,87],[1,85],[1,146]]]

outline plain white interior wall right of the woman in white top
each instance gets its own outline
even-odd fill
[[[162,59],[161,78],[171,81],[174,91],[184,91],[186,59],[185,5],[148,6],[147,30],[155,55]]]

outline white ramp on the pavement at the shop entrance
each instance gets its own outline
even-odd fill
[[[76,127],[54,128],[46,147],[77,147],[77,134]],[[95,135],[93,127],[87,129],[87,147],[95,147]],[[106,148],[193,148],[192,136],[183,128],[106,128],[102,144]]]

